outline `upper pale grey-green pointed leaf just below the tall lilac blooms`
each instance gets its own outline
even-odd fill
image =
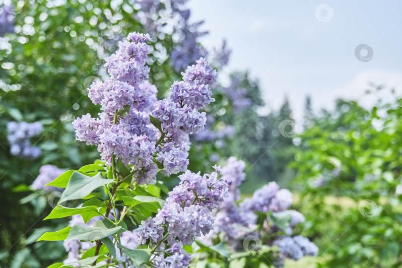
[[[88,196],[96,188],[112,182],[113,180],[103,179],[100,173],[91,177],[74,171],[59,202],[81,199]]]

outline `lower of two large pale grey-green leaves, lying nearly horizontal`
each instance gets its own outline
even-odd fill
[[[84,241],[94,241],[99,240],[109,235],[117,233],[122,229],[122,226],[107,229],[104,227],[86,227],[82,225],[74,225],[67,236],[66,240],[84,240]]]

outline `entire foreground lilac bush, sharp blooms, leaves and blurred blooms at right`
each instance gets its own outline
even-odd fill
[[[118,51],[105,59],[109,77],[88,89],[100,112],[72,122],[76,140],[96,145],[102,160],[60,176],[54,166],[41,168],[34,188],[65,188],[45,219],[72,219],[66,228],[38,240],[65,240],[68,257],[60,266],[70,267],[183,268],[200,251],[214,251],[227,261],[230,255],[222,243],[233,253],[241,251],[247,235],[276,247],[270,255],[279,256],[278,265],[285,258],[315,255],[314,244],[292,237],[292,228],[304,217],[289,209],[288,190],[269,183],[240,202],[243,161],[230,157],[223,169],[214,165],[204,175],[187,169],[189,136],[205,128],[206,113],[200,110],[214,101],[216,70],[200,58],[158,100],[156,86],[148,80],[149,42],[148,34],[134,32],[119,43]],[[169,192],[157,179],[159,172],[179,174],[180,183]],[[68,206],[74,200],[85,201]],[[265,214],[262,222],[259,213]],[[275,218],[286,220],[276,224]],[[209,246],[197,250],[201,241]]]

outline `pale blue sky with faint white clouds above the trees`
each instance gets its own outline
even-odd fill
[[[191,20],[204,20],[204,46],[232,49],[222,82],[235,70],[260,81],[266,107],[278,109],[285,96],[295,120],[305,96],[314,111],[336,98],[371,106],[378,98],[402,96],[402,1],[191,0]],[[363,45],[361,45],[363,44]],[[360,45],[360,46],[359,46]],[[369,83],[385,85],[368,97]],[[389,92],[389,93],[388,93]]]

